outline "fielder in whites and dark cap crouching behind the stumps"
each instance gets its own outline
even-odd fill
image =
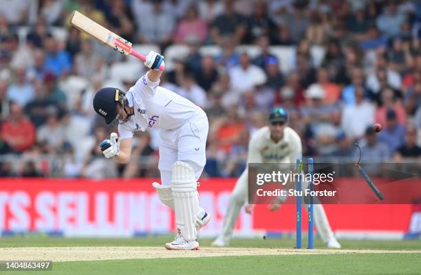
[[[259,129],[248,144],[248,163],[289,163],[295,164],[302,157],[301,139],[299,135],[287,126],[288,113],[282,108],[274,108],[269,115],[269,126]],[[228,203],[221,234],[213,241],[215,246],[228,246],[233,228],[241,207],[248,199],[248,168],[244,170]],[[279,199],[281,202],[281,199]],[[305,205],[307,208],[308,206]],[[279,209],[279,204],[271,206]],[[246,208],[251,212],[250,206]],[[328,248],[341,248],[341,244],[330,229],[329,221],[321,204],[314,204],[314,221],[316,228]]]

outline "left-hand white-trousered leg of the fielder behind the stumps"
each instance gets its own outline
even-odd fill
[[[231,194],[230,201],[228,202],[228,208],[224,216],[224,223],[222,224],[221,234],[213,241],[212,245],[214,246],[228,246],[231,236],[233,235],[233,230],[235,222],[241,208],[244,206],[244,203],[247,201],[247,180],[248,180],[248,169],[244,170],[237,184],[235,184],[233,193]]]

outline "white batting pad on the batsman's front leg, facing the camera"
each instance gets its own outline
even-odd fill
[[[197,229],[195,220],[199,212],[199,195],[195,171],[186,162],[174,162],[171,176],[171,190],[175,206],[175,223],[186,241],[195,241]]]

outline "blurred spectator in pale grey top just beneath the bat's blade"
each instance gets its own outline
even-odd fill
[[[80,47],[81,51],[74,56],[74,72],[76,75],[89,79],[94,76],[94,74],[105,74],[104,62],[100,56],[94,52],[91,39],[82,41]]]

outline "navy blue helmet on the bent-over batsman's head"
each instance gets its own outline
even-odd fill
[[[99,89],[94,97],[94,110],[102,118],[105,118],[107,124],[110,124],[117,117],[119,92],[119,89],[105,87]]]

